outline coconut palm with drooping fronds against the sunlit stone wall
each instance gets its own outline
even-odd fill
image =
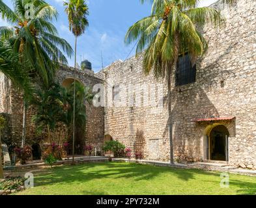
[[[146,0],[141,0],[144,3]],[[128,30],[126,44],[137,40],[136,55],[144,50],[143,70],[155,77],[166,77],[169,112],[170,161],[173,164],[173,124],[171,112],[171,73],[177,66],[178,56],[188,53],[195,63],[206,51],[207,44],[198,27],[206,23],[221,23],[220,12],[214,8],[196,8],[197,0],[148,0],[151,15]]]

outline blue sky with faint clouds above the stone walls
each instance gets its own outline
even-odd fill
[[[3,0],[11,5],[10,0]],[[74,47],[74,36],[68,30],[68,21],[64,13],[63,0],[46,0],[57,8],[59,17],[55,26],[59,36],[66,39]],[[202,0],[201,6],[208,6],[216,0]],[[78,63],[88,59],[92,62],[94,72],[98,72],[103,65],[107,66],[115,60],[125,60],[132,45],[124,45],[124,35],[135,21],[149,16],[149,3],[141,5],[139,0],[89,0],[89,28],[83,36],[78,38]],[[0,26],[7,25],[0,19]],[[130,53],[131,57],[134,51]],[[74,57],[68,60],[74,66]]]

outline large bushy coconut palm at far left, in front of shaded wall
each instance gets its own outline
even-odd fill
[[[13,0],[11,10],[0,0],[0,14],[12,27],[0,27],[0,36],[8,40],[16,53],[22,53],[20,62],[29,61],[27,69],[36,83],[48,88],[59,62],[67,64],[63,52],[71,57],[73,50],[66,40],[59,38],[51,20],[57,10],[42,0]],[[23,99],[22,145],[25,144],[26,96]]]

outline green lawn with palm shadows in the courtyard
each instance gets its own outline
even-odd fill
[[[59,166],[35,175],[35,188],[18,194],[255,194],[256,177],[121,162]]]

